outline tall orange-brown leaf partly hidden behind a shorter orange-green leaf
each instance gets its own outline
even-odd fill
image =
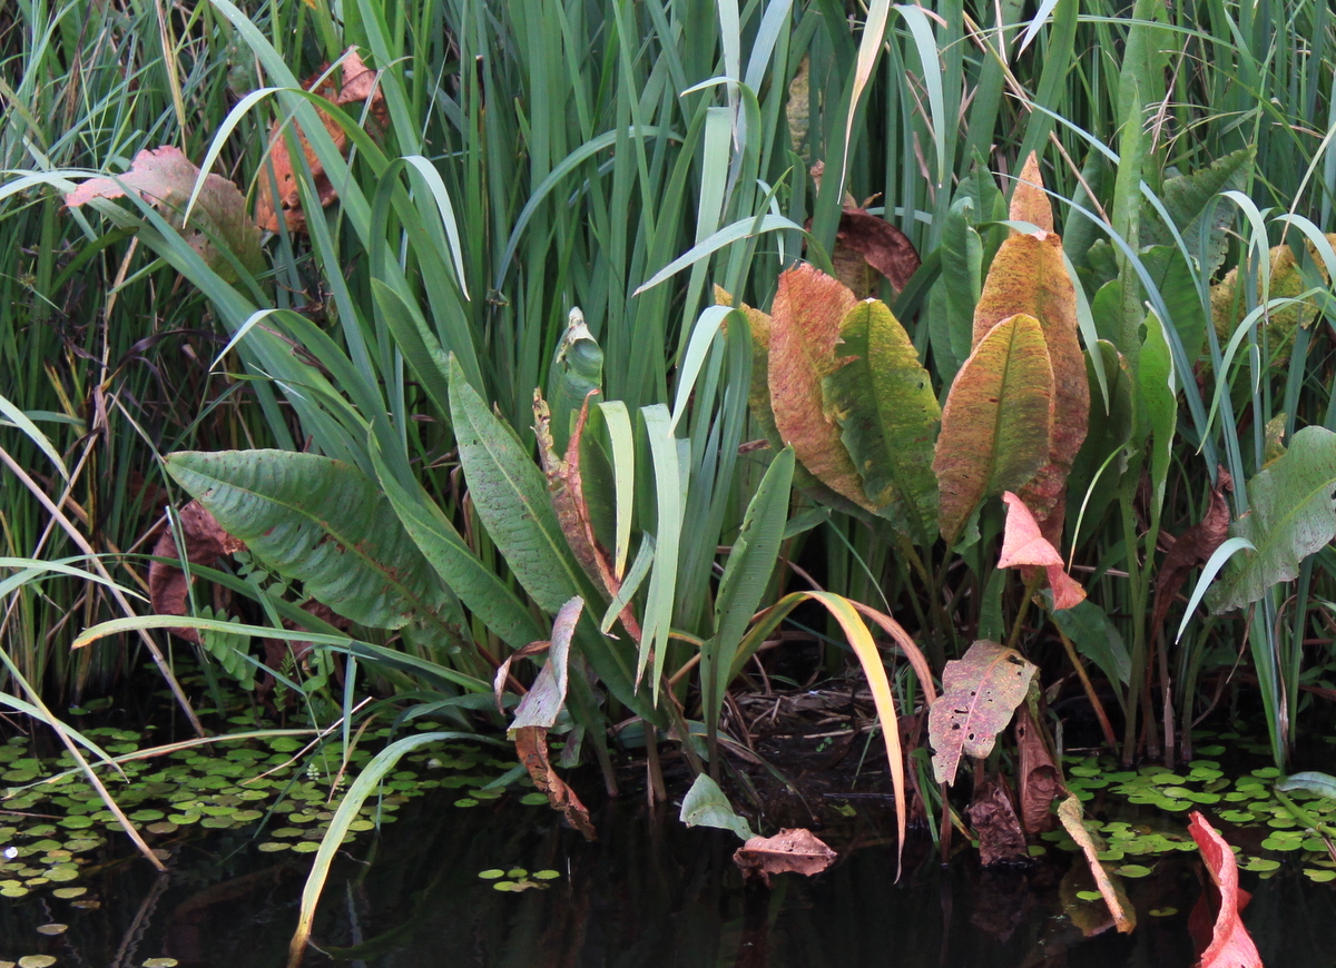
[[[1049,459],[1025,487],[1025,503],[1057,541],[1062,533],[1062,495],[1071,462],[1085,441],[1090,414],[1086,359],[1077,339],[1077,298],[1062,258],[1062,240],[1053,232],[1013,235],[993,259],[983,294],[974,311],[975,348],[998,322],[1018,312],[1034,316],[1043,330],[1053,366],[1053,423]]]

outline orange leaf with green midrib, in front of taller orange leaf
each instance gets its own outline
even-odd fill
[[[994,326],[965,360],[942,410],[933,470],[941,489],[938,523],[954,543],[975,505],[1019,491],[1047,462],[1053,426],[1053,367],[1034,316]]]

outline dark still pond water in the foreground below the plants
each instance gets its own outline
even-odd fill
[[[672,812],[669,812],[672,813]],[[1129,883],[1140,927],[1083,937],[1063,915],[1065,855],[1027,873],[981,872],[970,859],[942,869],[926,846],[895,881],[886,830],[855,818],[839,830],[840,861],[824,875],[786,876],[772,891],[743,885],[737,841],[649,817],[633,804],[596,816],[597,844],[556,814],[497,801],[406,805],[382,837],[351,844],[335,869],[315,937],[329,955],[306,964],[397,968],[1188,968],[1186,916],[1197,895],[1193,855]],[[187,968],[285,964],[307,859],[266,855],[238,832],[178,846],[158,877],[127,860],[80,880],[96,909],[49,895],[0,900],[0,961],[49,953],[56,965],[130,968],[170,956]],[[478,873],[552,869],[546,889],[501,892]],[[1297,865],[1259,880],[1245,921],[1271,968],[1336,964],[1336,885]],[[1070,884],[1070,883],[1069,883]],[[1180,913],[1150,916],[1177,908]],[[55,937],[37,932],[68,924]]]

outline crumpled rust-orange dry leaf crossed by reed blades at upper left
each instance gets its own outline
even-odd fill
[[[335,107],[366,101],[366,113],[370,120],[370,128],[374,132],[383,131],[389,126],[389,112],[385,107],[385,95],[382,95],[379,87],[377,87],[375,71],[362,63],[362,57],[358,56],[357,48],[350,47],[343,55],[342,83],[339,83],[334,75],[321,80],[327,69],[329,64],[321,64],[321,69],[307,77],[302,87],[313,93],[318,93]],[[341,126],[327,111],[317,108],[317,113],[339,152],[347,154],[349,138],[347,132],[343,131],[343,126]],[[255,194],[255,222],[258,222],[259,227],[266,232],[277,232],[278,212],[282,211],[283,219],[287,223],[287,231],[302,232],[306,231],[306,212],[302,211],[301,195],[297,190],[297,172],[293,167],[293,158],[287,151],[287,139],[283,136],[283,120],[279,119],[274,122],[274,126],[269,132],[269,158],[274,167],[274,176],[270,179],[267,166],[261,170],[259,188]],[[325,167],[315,156],[315,151],[311,148],[311,144],[301,127],[297,127],[297,140],[302,146],[302,154],[306,156],[306,164],[310,167],[311,175],[315,179],[315,192],[321,200],[321,206],[327,207],[333,204],[334,199],[338,198],[338,191],[330,182],[329,172],[325,171]],[[274,182],[278,183],[277,204]]]

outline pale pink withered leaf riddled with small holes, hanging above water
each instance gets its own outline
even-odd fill
[[[1025,700],[1035,666],[1015,649],[979,640],[962,658],[942,670],[942,694],[929,709],[933,774],[938,782],[955,781],[961,756],[977,760],[993,752]]]

